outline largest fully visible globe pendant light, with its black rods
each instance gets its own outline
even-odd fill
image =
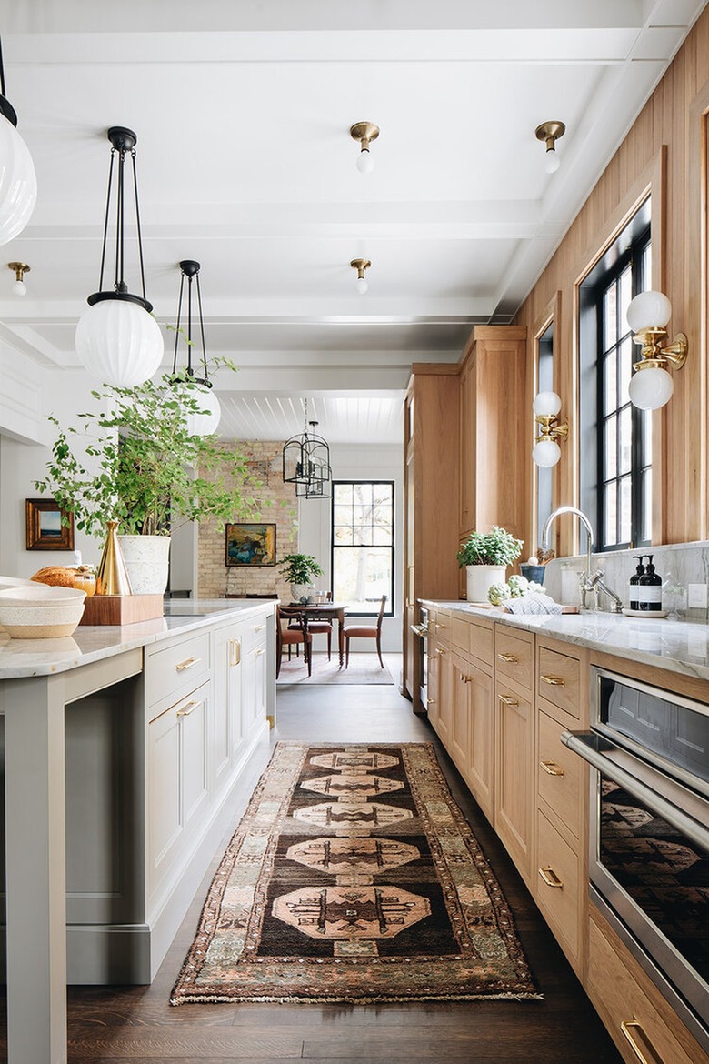
[[[164,344],[159,326],[151,315],[152,303],[146,298],[146,275],[142,265],[142,239],[140,236],[140,212],[138,207],[138,183],[135,170],[135,145],[137,136],[123,126],[112,126],[107,133],[111,140],[111,167],[108,170],[108,193],[103,225],[103,249],[99,292],[87,299],[88,310],[77,326],[77,353],[89,372],[105,384],[118,387],[135,387],[149,380],[163,361]],[[142,296],[134,296],[128,290],[124,279],[123,228],[125,199],[123,194],[123,171],[125,156],[130,154],[133,164],[133,190],[135,220],[138,240],[138,260]],[[116,194],[116,254],[113,290],[103,288],[103,270],[106,260],[106,240],[111,217],[111,189],[114,162],[118,155],[118,179]]]

